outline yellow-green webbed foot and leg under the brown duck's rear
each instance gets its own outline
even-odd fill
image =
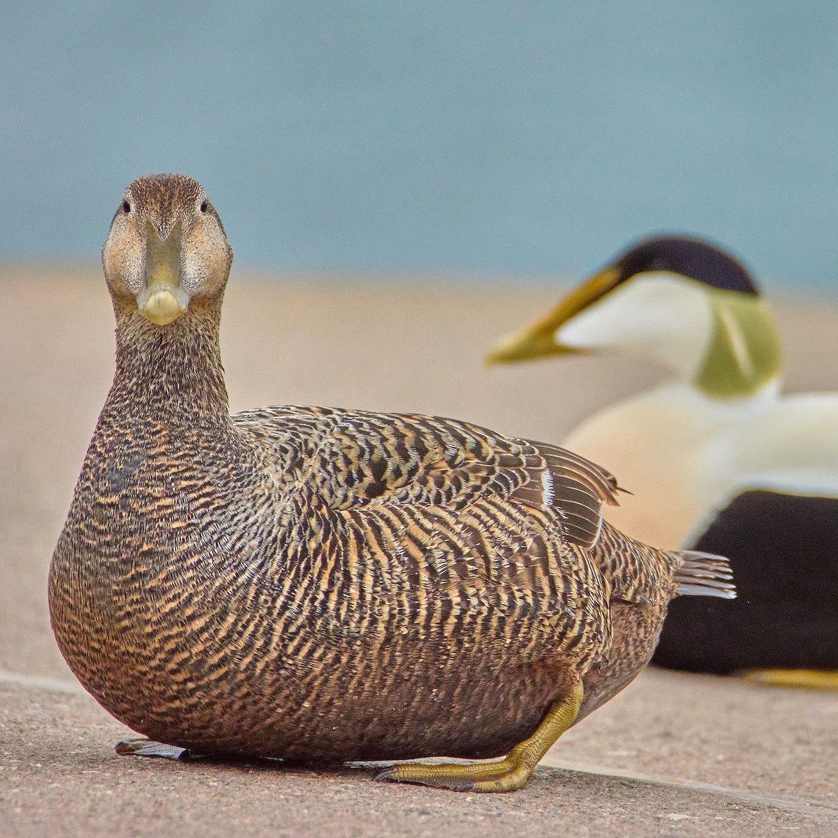
[[[532,777],[535,766],[573,723],[582,704],[582,685],[556,701],[535,733],[494,763],[399,763],[375,779],[418,783],[452,791],[516,791]]]

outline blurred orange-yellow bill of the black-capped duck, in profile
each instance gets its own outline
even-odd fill
[[[582,353],[585,349],[560,344],[556,332],[561,326],[604,297],[619,282],[620,272],[616,267],[607,267],[595,273],[577,288],[574,288],[556,308],[529,326],[504,334],[486,354],[486,364],[511,364],[515,361],[541,358],[546,355]]]

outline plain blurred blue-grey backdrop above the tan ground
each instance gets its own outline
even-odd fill
[[[0,2],[0,260],[198,178],[270,270],[577,276],[649,230],[838,292],[838,3]]]

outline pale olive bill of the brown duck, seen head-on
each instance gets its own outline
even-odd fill
[[[189,294],[180,284],[180,219],[162,239],[146,221],[146,286],[137,294],[137,308],[143,317],[165,326],[189,307]]]

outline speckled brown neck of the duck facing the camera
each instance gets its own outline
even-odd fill
[[[137,416],[166,427],[229,426],[219,344],[219,307],[156,326],[136,308],[116,312],[116,373],[103,416]]]

